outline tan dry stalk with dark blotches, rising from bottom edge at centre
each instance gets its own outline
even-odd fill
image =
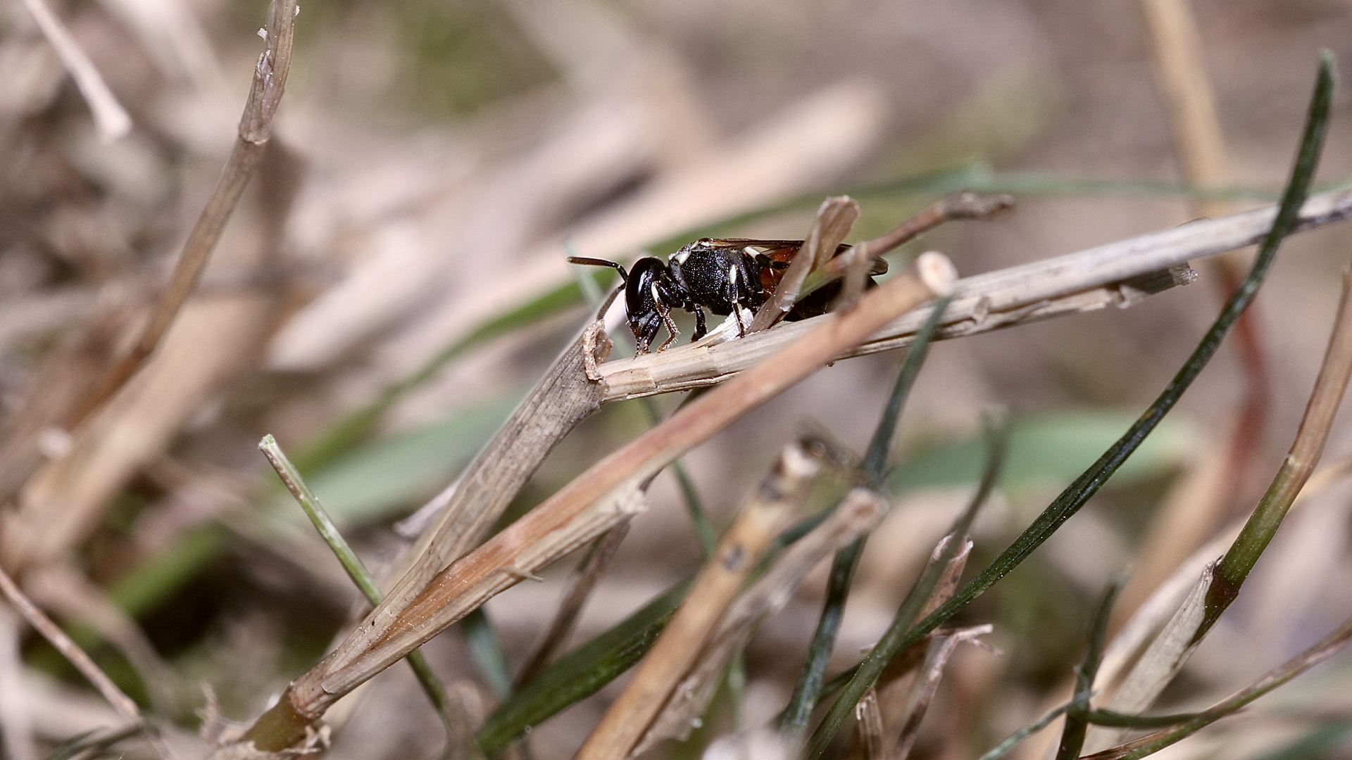
[[[799,442],[784,446],[771,472],[742,507],[718,549],[695,577],[685,602],[634,669],[625,691],[592,729],[575,760],[627,757],[658,715],[676,683],[695,664],[704,641],[779,531],[807,498],[821,460]]]

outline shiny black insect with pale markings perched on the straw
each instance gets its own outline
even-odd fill
[[[604,258],[569,257],[571,264],[610,266],[619,272],[625,281],[625,307],[629,312],[629,329],[634,333],[638,353],[648,353],[657,331],[667,327],[668,338],[657,350],[662,350],[676,339],[676,323],[671,310],[683,308],[695,315],[695,335],[698,341],[708,331],[704,310],[718,316],[735,315],[737,327],[746,334],[741,311],[737,307],[756,311],[775,292],[784,269],[803,241],[758,241],[748,238],[700,238],[683,246],[668,261],[653,256],[639,258],[629,272],[614,261]],[[848,245],[836,249],[840,256]],[[754,252],[754,253],[752,253]],[[877,260],[871,275],[887,272],[887,262]],[[811,292],[799,300],[786,319],[807,319],[826,314],[831,300],[840,292],[840,281]]]

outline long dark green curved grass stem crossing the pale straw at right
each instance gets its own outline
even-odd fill
[[[1215,322],[1206,331],[1206,335],[1202,337],[1201,343],[1198,343],[1197,349],[1192,350],[1192,354],[1174,376],[1174,380],[1169,381],[1168,387],[1164,388],[1155,403],[1145,410],[1122,438],[1113,444],[1083,475],[1075,479],[980,575],[959,590],[952,599],[930,613],[919,625],[911,627],[909,623],[898,625],[899,621],[894,621],[894,625],[888,627],[877,645],[860,663],[854,678],[850,679],[830,710],[827,710],[826,717],[808,742],[808,757],[819,757],[826,751],[836,732],[840,730],[841,725],[853,711],[854,703],[877,680],[879,673],[883,672],[883,667],[898,652],[921,641],[929,632],[957,614],[972,599],[980,596],[987,588],[995,586],[996,581],[1026,560],[1034,549],[1056,533],[1061,523],[1078,513],[1098,492],[1103,481],[1117,472],[1145,437],[1164,419],[1164,415],[1174,408],[1174,404],[1178,403],[1183,392],[1215,354],[1215,350],[1220,348],[1225,334],[1234,325],[1234,320],[1238,319],[1240,314],[1244,312],[1244,308],[1253,299],[1253,295],[1272,265],[1282,238],[1291,230],[1297,212],[1305,201],[1310,180],[1314,176],[1314,169],[1324,147],[1332,93],[1332,57],[1324,54],[1320,61],[1314,100],[1310,104],[1305,134],[1301,139],[1301,150],[1297,156],[1295,168],[1291,172],[1286,192],[1282,195],[1282,204],[1278,208],[1276,219],[1272,222],[1272,230],[1263,241],[1249,275],[1226,302],[1220,316],[1217,316]]]

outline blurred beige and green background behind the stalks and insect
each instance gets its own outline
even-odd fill
[[[1352,61],[1352,3],[1192,5],[1228,154],[1222,203],[1265,203],[1288,172],[1317,50]],[[5,5],[0,446],[37,441],[46,461],[5,485],[0,563],[181,729],[172,738],[189,756],[204,751],[191,738],[201,683],[227,718],[251,718],[358,609],[258,438],[274,434],[362,556],[388,561],[403,542],[396,522],[454,479],[583,325],[577,277],[596,273],[571,272],[569,253],[629,260],[703,234],[798,238],[840,192],[863,207],[850,238],[861,239],[957,189],[1013,193],[1014,214],[945,226],[892,256],[896,270],[936,249],[975,275],[1199,215],[1136,0],[310,1],[277,134],[197,295],[132,384],[62,435],[43,414],[124,350],[219,174],[266,5],[54,9],[134,126],[100,141],[30,11]],[[1345,92],[1334,103],[1324,187],[1352,174],[1347,103]],[[1106,579],[1133,565],[1157,583],[1252,508],[1299,421],[1349,254],[1340,226],[1287,243],[1253,311],[1256,353],[1224,348],[1129,468],[961,615],[994,622],[1003,655],[959,652],[917,756],[975,757],[1063,699]],[[1176,371],[1222,298],[1221,270],[1197,268],[1195,284],[1130,310],[933,348],[902,418],[899,495],[869,542],[833,672],[882,633],[971,494],[980,415],[1006,410],[1013,438],[973,568]],[[715,525],[804,422],[863,450],[896,362],[838,362],[688,456]],[[676,403],[657,399],[664,411]],[[638,403],[606,407],[550,456],[512,514],[650,422]],[[1340,418],[1326,454],[1349,452]],[[1217,472],[1228,475],[1218,483]],[[1333,485],[1291,515],[1165,695],[1169,709],[1214,700],[1352,611],[1349,495]],[[675,481],[660,477],[652,498],[575,644],[698,567]],[[1171,504],[1199,502],[1215,504],[1183,527],[1167,522],[1182,508]],[[487,606],[512,669],[571,564]],[[752,640],[741,706],[717,698],[690,742],[654,752],[694,757],[731,730],[735,711],[757,726],[784,706],[821,610],[825,572],[814,577]],[[1129,588],[1124,602],[1148,591]],[[12,614],[0,622],[8,756],[42,756],[116,722],[41,638]],[[457,630],[425,650],[448,682],[480,684],[491,709]],[[1336,660],[1270,698],[1265,717],[1174,752],[1352,752],[1349,669]],[[538,726],[535,756],[571,756],[617,686]],[[349,702],[333,715],[335,757],[438,751],[441,728],[407,668]],[[1033,744],[1026,757],[1040,756]]]

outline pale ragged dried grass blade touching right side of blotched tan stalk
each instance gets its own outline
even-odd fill
[[[690,736],[694,721],[704,713],[714,696],[721,673],[734,652],[750,638],[756,626],[788,603],[794,590],[827,553],[876,527],[886,513],[887,502],[882,496],[865,488],[856,488],[821,525],[784,552],[765,575],[733,603],[719,623],[718,633],[700,652],[698,664],[681,679],[633,753],[641,755],[664,738]]]

